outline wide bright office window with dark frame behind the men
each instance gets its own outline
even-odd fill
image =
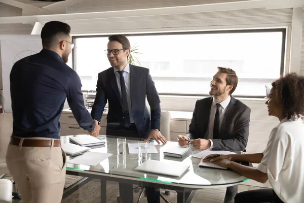
[[[74,37],[75,69],[83,90],[95,90],[98,73],[110,67],[108,36]],[[234,95],[264,96],[265,85],[283,73],[285,29],[161,33],[128,36],[160,94],[208,94],[217,66],[239,77]]]

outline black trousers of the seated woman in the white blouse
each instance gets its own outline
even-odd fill
[[[259,189],[240,192],[235,197],[235,203],[284,203],[273,189]]]

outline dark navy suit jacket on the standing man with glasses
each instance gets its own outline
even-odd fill
[[[160,129],[161,106],[158,92],[149,70],[130,64],[131,104],[134,122],[140,138],[147,138],[150,129]],[[113,67],[98,74],[96,98],[92,118],[100,120],[108,100],[107,123],[123,123],[122,99]],[[146,107],[147,97],[151,116]]]

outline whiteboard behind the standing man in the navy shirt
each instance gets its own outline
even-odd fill
[[[10,73],[14,63],[26,56],[39,53],[41,50],[40,35],[0,35],[4,112],[12,112]]]

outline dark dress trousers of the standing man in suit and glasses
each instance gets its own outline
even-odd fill
[[[134,123],[130,127],[125,127],[123,124],[107,123],[106,134],[109,136],[139,138],[136,126]],[[148,203],[160,202],[160,190],[153,187],[145,187]],[[128,183],[119,183],[120,198],[123,203],[133,202],[133,185]]]

